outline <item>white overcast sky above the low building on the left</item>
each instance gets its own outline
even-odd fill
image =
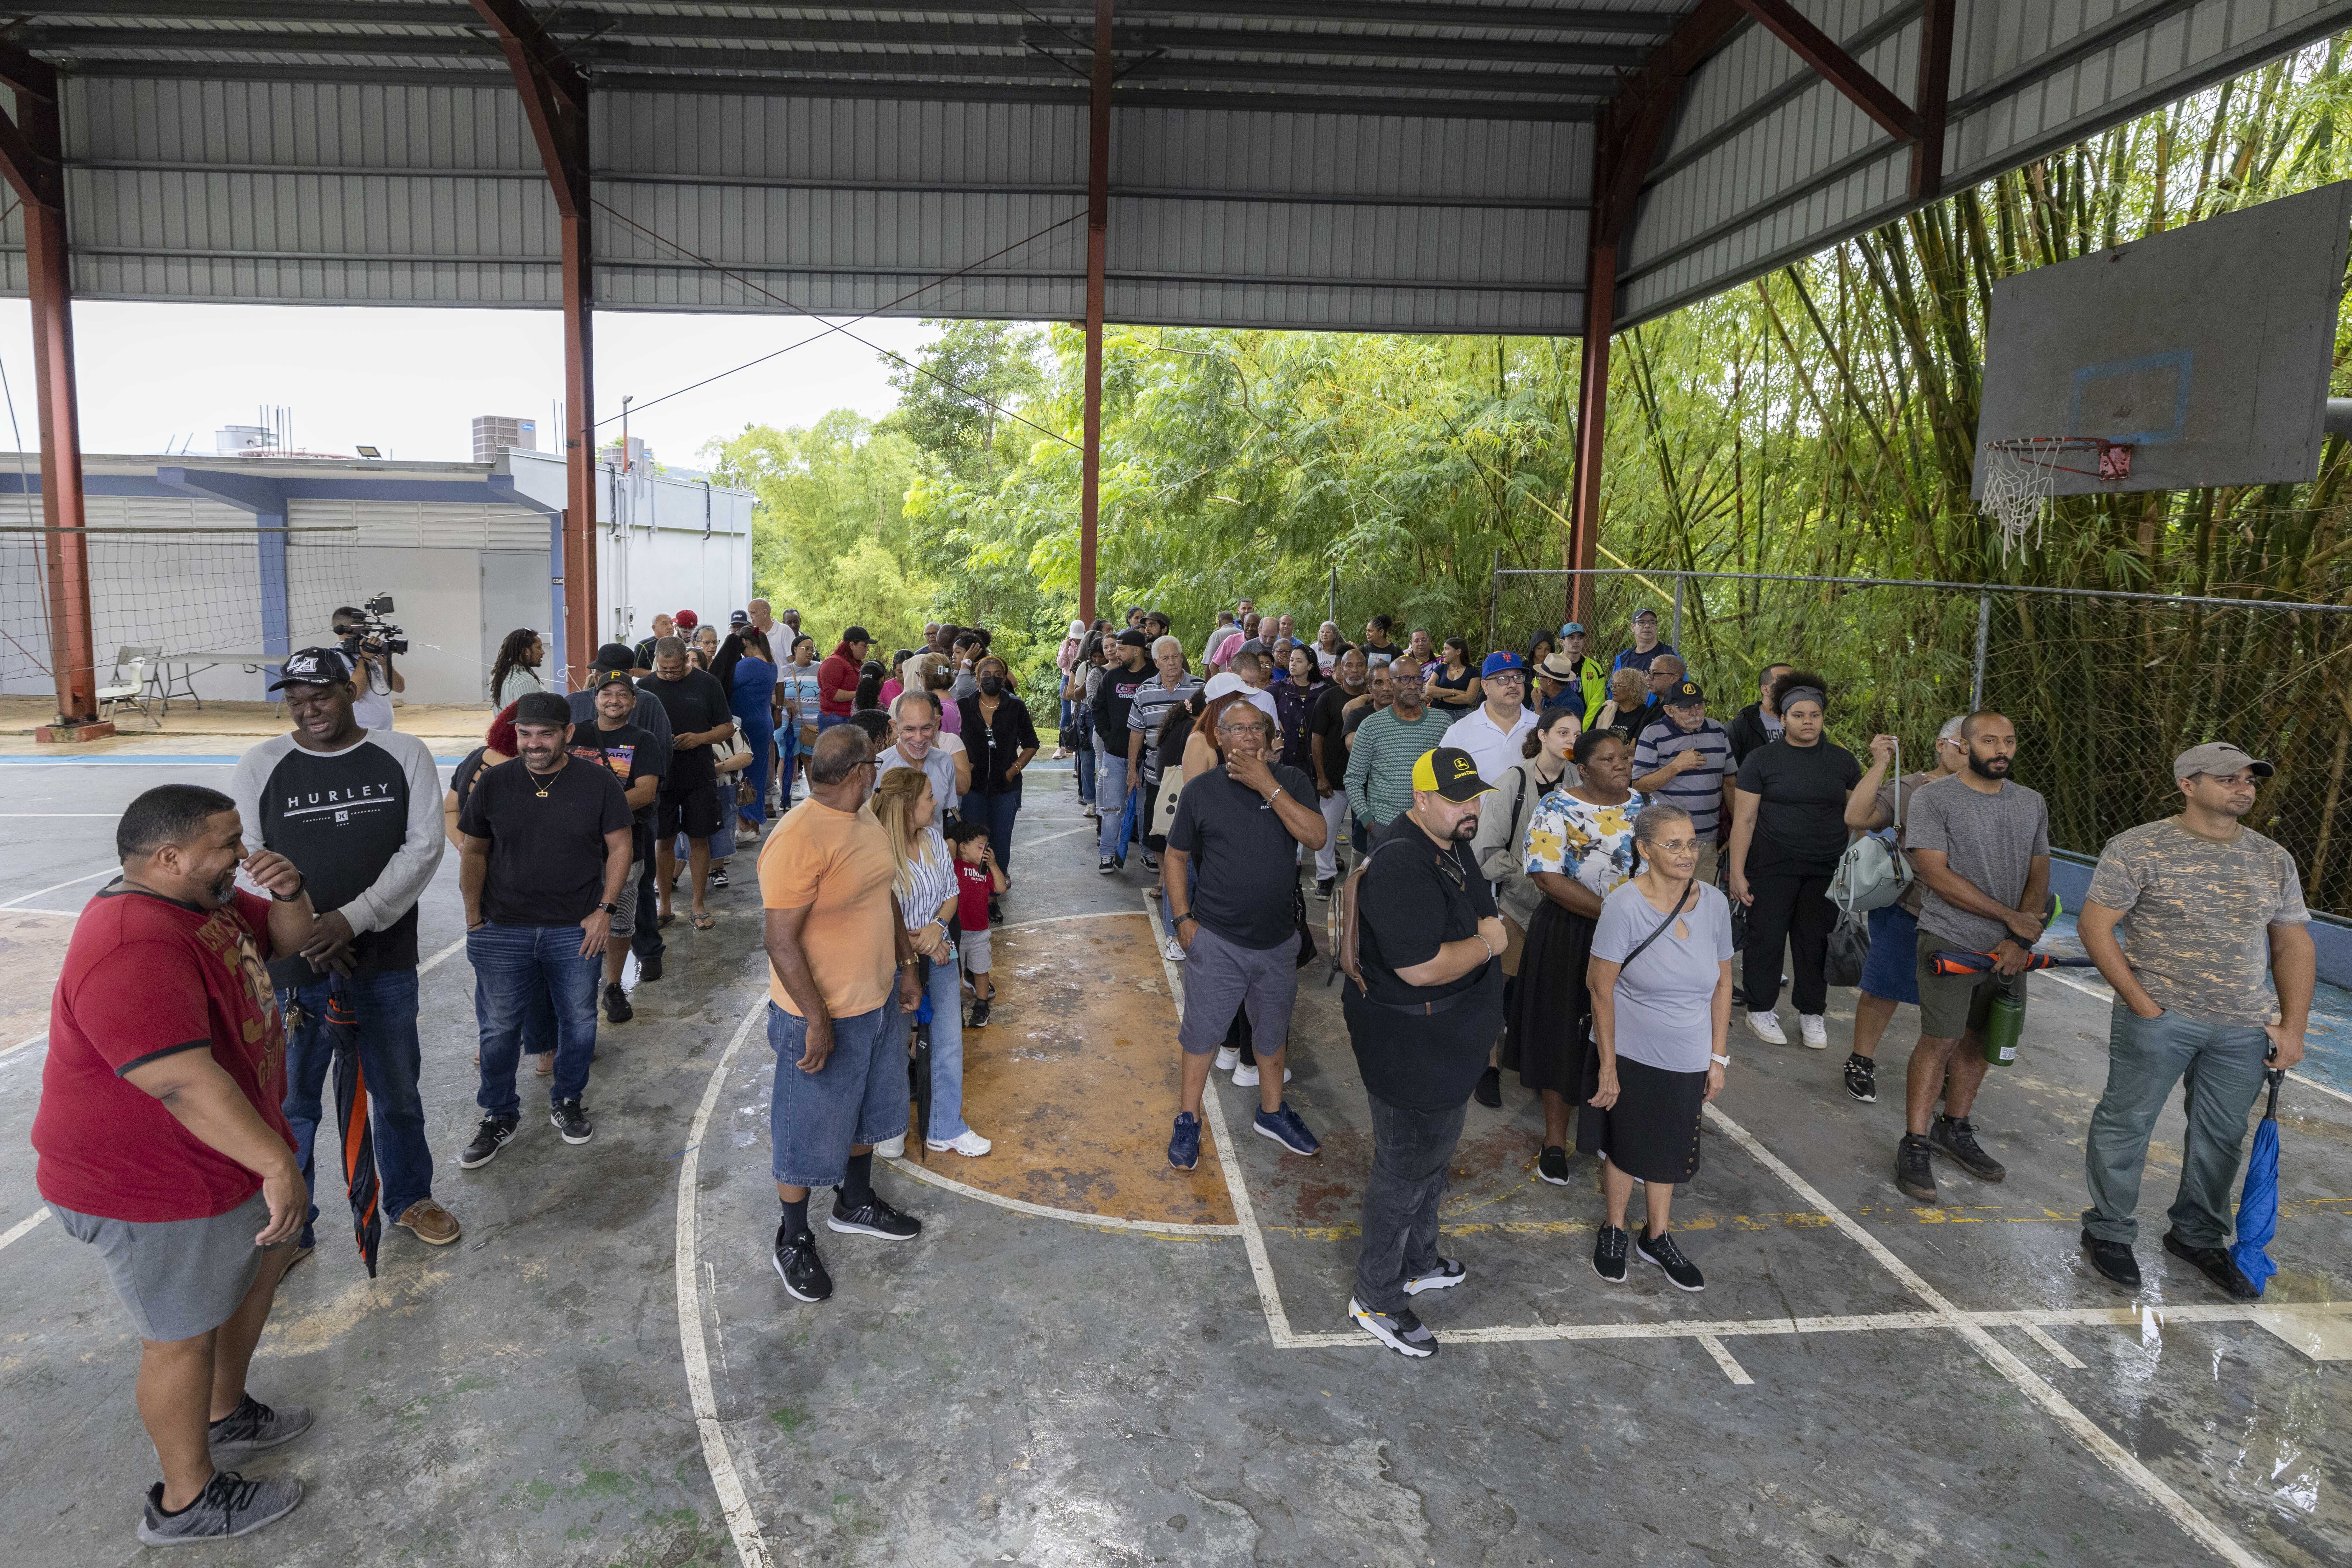
[[[350,454],[362,442],[383,456],[470,461],[473,416],[539,421],[539,447],[555,449],[555,402],[564,360],[555,310],[409,310],[346,306],[127,306],[73,308],[82,451],[212,451],[219,425],[266,423],[261,404],[294,414],[303,451]],[[821,324],[793,315],[595,317],[597,418],[640,404],[755,355],[809,341]],[[929,329],[910,320],[849,327],[861,339],[913,353]],[[833,334],[769,364],[727,376],[644,414],[630,435],[663,463],[699,468],[701,447],[746,423],[804,425],[828,409],[880,416],[896,393],[891,362]],[[0,301],[0,371],[26,449],[33,421],[33,339],[21,301]],[[0,409],[5,418],[7,409]],[[621,430],[619,418],[602,437]],[[14,437],[0,425],[0,447]]]

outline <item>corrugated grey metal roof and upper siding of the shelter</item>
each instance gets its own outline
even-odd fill
[[[7,38],[61,73],[75,292],[555,306],[501,9],[590,94],[597,310],[1084,315],[1091,0],[33,5]],[[1893,108],[1947,16],[1936,181],[1776,12]],[[1679,49],[1628,324],[2345,26],[2352,0],[1120,0],[1105,313],[1583,331],[1597,153]],[[24,292],[19,219],[0,247]]]

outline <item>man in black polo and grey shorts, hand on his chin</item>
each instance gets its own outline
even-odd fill
[[[1244,1006],[1258,1041],[1258,1135],[1291,1154],[1322,1147],[1282,1100],[1282,1056],[1298,997],[1298,924],[1291,914],[1298,844],[1322,849],[1324,820],[1308,776],[1270,762],[1275,722],[1263,710],[1249,703],[1225,708],[1216,743],[1225,766],[1185,780],[1160,870],[1169,929],[1185,950],[1183,1025],[1176,1032],[1183,1098],[1169,1138],[1169,1164],[1178,1171],[1200,1164],[1200,1093],[1225,1030]]]

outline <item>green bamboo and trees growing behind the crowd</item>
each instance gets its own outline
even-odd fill
[[[1983,583],[1985,696],[2018,719],[2018,773],[2065,849],[2166,811],[2176,743],[2227,736],[2279,762],[2258,818],[2314,905],[2352,912],[2352,616],[1999,592],[2352,604],[2345,442],[2312,484],[2060,501],[2006,557],[1969,503],[1992,284],[2352,174],[2345,42],[1621,334],[1602,564],[1649,576],[1604,581],[1597,642],[1637,604],[1665,614],[1677,569]],[[2347,350],[2340,331],[2338,395]],[[976,437],[917,386],[880,423],[828,416],[826,440],[750,428],[722,470],[762,494],[762,588],[882,581],[906,614],[997,625],[1035,679],[1077,585],[1080,341],[962,322],[934,353],[1018,421]],[[1157,604],[1197,635],[1249,592],[1350,635],[1390,611],[1524,646],[1557,625],[1562,578],[1494,567],[1564,564],[1576,367],[1569,339],[1112,327],[1103,609]],[[854,510],[828,512],[835,491]],[[1976,592],[1712,581],[1686,585],[1682,628],[1717,712],[1792,658],[1837,686],[1842,741],[1891,729],[1924,757],[1966,705],[1978,614]]]

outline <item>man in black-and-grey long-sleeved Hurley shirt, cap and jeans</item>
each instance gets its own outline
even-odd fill
[[[383,1213],[421,1241],[449,1246],[459,1225],[433,1201],[433,1147],[416,1088],[423,1070],[416,900],[445,844],[433,748],[395,729],[360,726],[353,668],[336,649],[292,654],[270,691],[285,693],[294,729],[245,752],[228,792],[247,849],[273,849],[292,860],[310,889],[310,905],[322,910],[318,936],[270,964],[287,1018],[285,1114],[303,1185],[310,1185],[310,1138],[334,1060],[327,1032],[334,997],[358,1020]],[[303,1220],[296,1262],[310,1251],[315,1220],[318,1204]]]

